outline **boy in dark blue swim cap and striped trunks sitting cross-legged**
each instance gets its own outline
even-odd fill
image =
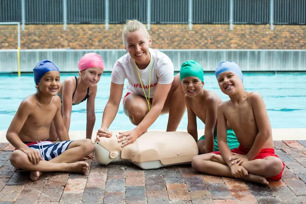
[[[60,72],[48,60],[38,62],[34,71],[37,92],[25,98],[7,131],[7,140],[16,148],[10,156],[11,164],[31,171],[35,181],[44,171],[86,173],[88,164],[77,162],[93,151],[89,139],[69,141],[61,116],[61,100],[56,96],[61,83]],[[51,122],[61,142],[46,141]]]

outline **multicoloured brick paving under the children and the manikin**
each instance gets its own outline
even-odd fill
[[[143,170],[129,162],[88,160],[87,175],[50,172],[36,182],[11,166],[13,147],[0,143],[1,203],[306,203],[306,141],[274,141],[286,167],[262,186],[194,171],[191,165]]]

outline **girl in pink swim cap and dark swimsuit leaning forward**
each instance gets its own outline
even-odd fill
[[[94,101],[97,93],[97,83],[100,81],[104,70],[103,59],[95,53],[85,54],[79,62],[79,70],[78,77],[68,77],[61,83],[61,88],[57,95],[62,101],[62,116],[68,132],[72,106],[78,105],[87,99],[86,138],[91,139],[95,123]],[[57,139],[58,136],[52,123],[49,140],[54,141]]]

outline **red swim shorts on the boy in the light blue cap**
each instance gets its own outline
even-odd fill
[[[238,148],[232,149],[231,151],[233,153],[237,153],[239,155],[246,155],[248,153],[249,149],[246,149],[243,146],[239,145]],[[220,151],[214,151],[212,153],[214,153],[216,155],[221,155]],[[266,157],[277,157],[277,158],[279,158],[277,155],[274,154],[274,149],[272,149],[272,148],[264,148],[264,149],[262,149],[259,152],[259,154],[254,158],[254,160],[256,160],[256,159],[264,159]],[[274,180],[274,181],[281,180],[284,168],[285,168],[285,163],[283,162],[283,170],[281,171],[281,173],[278,173],[277,175],[271,176],[271,177],[266,178],[266,179]]]

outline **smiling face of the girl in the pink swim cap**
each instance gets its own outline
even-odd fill
[[[90,87],[94,87],[101,79],[103,70],[99,67],[91,67],[80,71],[82,80]]]

